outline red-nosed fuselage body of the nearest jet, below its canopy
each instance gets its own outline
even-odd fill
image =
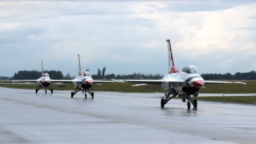
[[[186,72],[167,74],[163,77],[164,81],[172,81],[163,83],[164,90],[172,89],[178,94],[193,95],[199,92],[200,87],[204,86],[204,79],[200,74],[188,74]]]

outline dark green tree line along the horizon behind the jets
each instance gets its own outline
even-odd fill
[[[86,69],[89,71],[89,69]],[[51,79],[74,79],[75,76],[70,76],[68,73],[66,76],[63,76],[60,70],[45,70],[45,73],[48,73]],[[41,76],[41,72],[36,70],[20,70],[15,73],[13,79],[38,79]],[[133,73],[133,74],[123,74],[123,75],[115,75],[115,74],[106,74],[106,67],[98,68],[97,74],[93,74],[93,79],[161,79],[164,75],[161,74],[141,74],[141,73]],[[250,72],[237,72],[236,74],[201,74],[201,76],[205,80],[255,80],[256,72],[254,70]]]

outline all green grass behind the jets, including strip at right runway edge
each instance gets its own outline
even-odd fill
[[[256,81],[243,81],[246,84],[208,84],[206,88],[201,88],[199,93],[256,93]],[[4,83],[0,81],[0,83]],[[103,92],[125,92],[125,93],[163,93],[162,86],[145,85],[145,86],[131,86],[135,83],[104,83],[103,85],[93,84],[95,91]],[[73,90],[74,84],[54,84],[54,90]],[[65,86],[65,87],[58,87]],[[22,89],[36,89],[37,84],[0,84],[0,87],[5,88],[22,88]],[[250,97],[193,97],[198,100],[211,100],[220,102],[238,102],[245,104],[255,104],[256,96]]]

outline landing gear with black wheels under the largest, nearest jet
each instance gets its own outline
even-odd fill
[[[172,95],[172,97],[170,97],[170,95]],[[165,99],[161,99],[161,108],[164,108],[164,105],[167,104],[167,102],[171,99],[173,99],[173,97],[176,97],[178,94],[177,93],[173,93],[172,90],[166,90],[165,93]],[[179,95],[179,97],[182,99],[182,102],[186,102],[187,101],[187,106],[188,109],[190,109],[190,103],[193,104],[194,108],[197,108],[197,100],[196,99],[191,99],[190,95]]]

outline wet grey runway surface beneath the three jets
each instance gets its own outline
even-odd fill
[[[187,109],[172,99],[160,108],[164,93],[0,92],[0,143],[256,143],[252,104]]]

